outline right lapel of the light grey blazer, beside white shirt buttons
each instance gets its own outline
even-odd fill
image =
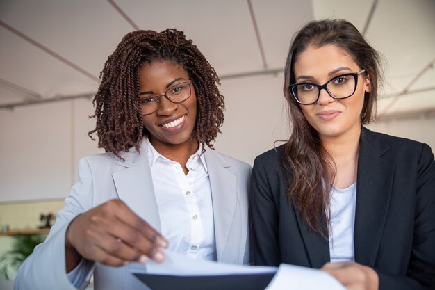
[[[237,177],[227,168],[221,156],[206,147],[204,153],[211,184],[211,198],[213,200],[213,218],[215,221],[215,241],[217,261],[243,261],[240,245],[228,245],[233,218],[236,214]],[[237,253],[235,255],[235,253]]]

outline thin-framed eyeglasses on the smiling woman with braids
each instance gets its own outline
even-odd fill
[[[191,83],[192,81],[190,80],[176,83],[161,95],[140,92],[139,103],[141,105],[142,115],[149,115],[156,112],[158,110],[158,105],[161,102],[161,97],[165,97],[175,104],[186,101],[186,99],[188,99],[192,94],[192,90],[190,88]]]

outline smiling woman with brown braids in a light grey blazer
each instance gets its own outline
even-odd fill
[[[15,289],[143,289],[131,262],[249,262],[250,166],[211,149],[224,120],[219,78],[181,31],[124,36],[95,95],[99,147]],[[224,208],[222,208],[224,207]],[[51,269],[51,271],[47,271]],[[31,273],[29,275],[28,273]]]

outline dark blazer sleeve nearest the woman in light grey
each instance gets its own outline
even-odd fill
[[[265,166],[263,156],[254,161],[251,176],[251,220],[254,264],[278,266],[281,263],[279,251],[279,217],[272,188],[268,180],[270,168]]]

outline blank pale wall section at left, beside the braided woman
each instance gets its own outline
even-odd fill
[[[0,202],[63,198],[81,156],[99,152],[87,99],[0,111]]]

